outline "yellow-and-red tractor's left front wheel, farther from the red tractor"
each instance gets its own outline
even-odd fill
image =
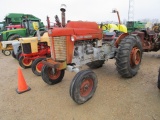
[[[32,65],[32,62],[33,62],[33,60],[31,60],[31,59],[29,59],[27,57],[24,57],[24,56],[21,56],[19,58],[19,65],[24,69],[30,68],[31,65]]]

